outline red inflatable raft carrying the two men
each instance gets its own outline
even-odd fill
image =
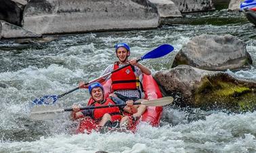
[[[105,91],[105,98],[108,97],[110,94],[110,86],[111,86],[111,80],[108,80],[103,84],[104,91]],[[154,78],[152,78],[152,75],[144,75],[143,76],[143,88],[144,88],[144,94],[146,99],[157,99],[162,98],[161,90],[158,88],[158,85],[156,84],[156,81]],[[88,104],[91,104],[92,100],[89,100]],[[136,131],[136,125],[140,121],[145,121],[150,123],[150,125],[156,127],[160,123],[161,115],[163,112],[162,106],[148,106],[145,113],[142,115],[142,117],[131,127],[129,130],[135,132]],[[95,123],[93,119],[90,117],[85,117],[81,119],[79,126],[77,128],[77,133],[91,133],[92,130],[98,131],[98,124]]]

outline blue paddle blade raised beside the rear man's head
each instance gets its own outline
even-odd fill
[[[173,46],[171,46],[170,44],[162,44],[161,46],[157,47],[156,49],[146,53],[146,55],[142,56],[141,59],[155,59],[158,57],[163,57],[169,53],[171,53],[171,51],[173,51]]]

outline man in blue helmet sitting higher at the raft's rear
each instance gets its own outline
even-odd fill
[[[105,80],[111,79],[111,88],[113,93],[109,96],[118,97],[125,102],[127,100],[133,100],[133,102],[135,102],[136,100],[142,98],[142,84],[140,83],[140,75],[142,75],[142,73],[150,75],[151,71],[144,65],[138,63],[137,59],[128,59],[130,56],[130,47],[128,44],[121,42],[116,44],[114,48],[116,57],[119,59],[119,61],[116,61],[114,64],[106,67],[102,75],[109,73],[114,69],[118,69],[119,67],[123,67],[124,65],[131,65],[112,73],[99,82],[104,82]],[[83,88],[83,84],[84,82],[81,82],[79,86]],[[137,107],[137,113],[133,114],[132,117],[138,118],[144,113],[144,111],[146,111],[146,106],[142,104],[136,105],[135,107]]]

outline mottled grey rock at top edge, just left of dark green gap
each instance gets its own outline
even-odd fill
[[[194,11],[209,11],[214,10],[212,0],[172,0],[179,8],[179,11],[194,12]]]

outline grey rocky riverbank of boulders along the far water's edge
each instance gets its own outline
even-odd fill
[[[181,18],[186,12],[215,10],[217,3],[209,0],[6,0],[0,2],[0,38],[157,28],[161,18]],[[9,28],[4,26],[5,22]]]

